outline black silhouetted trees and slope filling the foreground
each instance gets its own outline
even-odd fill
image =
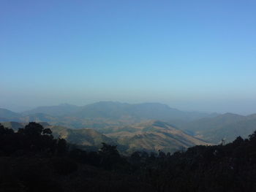
[[[70,147],[71,146],[71,147]],[[227,145],[173,153],[87,152],[29,123],[0,124],[0,191],[256,191],[256,131]]]

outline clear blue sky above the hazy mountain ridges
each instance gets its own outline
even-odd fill
[[[256,112],[255,0],[1,0],[0,107]]]

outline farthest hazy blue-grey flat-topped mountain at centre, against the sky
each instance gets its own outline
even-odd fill
[[[89,104],[70,116],[78,118],[104,118],[108,120],[123,120],[138,122],[140,120],[195,120],[207,117],[208,113],[183,112],[168,107],[166,104],[143,103],[127,104],[113,101],[100,101]]]

